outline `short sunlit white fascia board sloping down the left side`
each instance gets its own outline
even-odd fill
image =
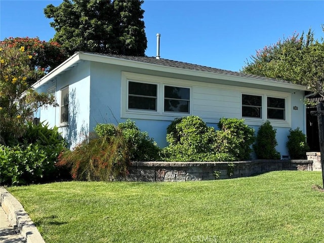
[[[74,53],[71,57],[66,59],[64,62],[62,62],[59,66],[54,68],[52,71],[50,71],[48,74],[46,74],[44,77],[39,79],[35,84],[31,86],[33,89],[37,89],[38,87],[44,85],[49,80],[53,79],[55,76],[59,75],[63,71],[65,71],[67,68],[73,66],[75,63],[80,61],[80,57],[78,53]]]

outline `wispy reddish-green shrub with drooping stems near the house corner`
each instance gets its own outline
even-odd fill
[[[125,139],[116,129],[109,138],[97,137],[92,134],[73,151],[61,153],[58,166],[71,169],[71,175],[76,180],[107,181],[111,175],[115,179],[125,177],[129,164],[129,154]]]

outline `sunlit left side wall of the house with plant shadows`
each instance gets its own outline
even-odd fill
[[[69,121],[60,124],[60,107],[41,108],[41,121],[49,122],[50,127],[57,126],[70,147],[74,147],[89,133],[90,109],[90,66],[89,62],[80,62],[72,69],[56,76],[52,82],[38,89],[46,92],[51,87],[56,87],[55,96],[60,104],[60,90],[69,86]]]

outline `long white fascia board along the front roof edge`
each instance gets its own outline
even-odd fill
[[[145,62],[133,61],[128,59],[116,58],[116,57],[109,57],[109,56],[98,55],[93,53],[79,52],[78,54],[80,56],[80,59],[87,60],[87,61],[142,68],[142,69],[161,71],[161,72],[184,74],[184,75],[197,76],[197,77],[230,80],[238,83],[263,85],[269,87],[279,87],[279,88],[301,90],[301,91],[308,90],[307,87],[302,85],[284,83],[275,80],[264,80],[264,79],[253,78],[253,77],[242,77],[242,76],[235,76],[235,75],[223,74],[223,73],[213,73],[213,72],[190,70],[190,69],[184,69],[178,67],[163,66],[158,64],[145,63]]]

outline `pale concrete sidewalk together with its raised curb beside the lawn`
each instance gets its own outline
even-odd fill
[[[0,242],[45,243],[22,205],[4,187],[0,187],[0,206]]]

